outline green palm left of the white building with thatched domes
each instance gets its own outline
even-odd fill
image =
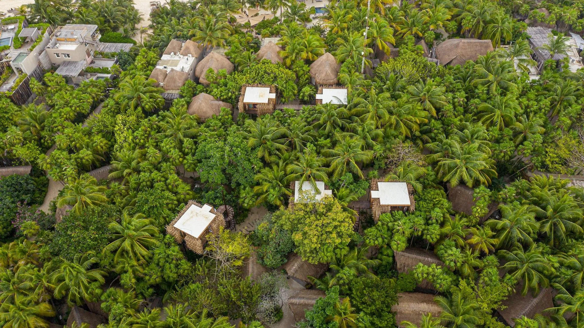
[[[136,75],[134,78],[128,76],[120,83],[119,92],[114,95],[116,102],[124,100],[122,106],[129,104],[131,110],[138,108],[146,111],[153,111],[158,107],[162,107],[164,99],[160,96],[163,91],[161,88],[156,88],[154,79],[146,79],[142,75]]]

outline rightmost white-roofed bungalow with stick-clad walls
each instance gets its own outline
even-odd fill
[[[391,211],[413,212],[416,209],[412,185],[405,182],[385,182],[383,179],[373,179],[371,180],[369,200],[375,222],[383,213]]]

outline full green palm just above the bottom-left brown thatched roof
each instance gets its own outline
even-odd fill
[[[55,298],[61,299],[67,295],[69,306],[81,305],[84,300],[95,301],[96,289],[101,289],[106,275],[100,268],[91,269],[97,262],[97,257],[89,257],[88,254],[77,254],[73,261],[61,259],[57,270],[49,276],[55,285]]]

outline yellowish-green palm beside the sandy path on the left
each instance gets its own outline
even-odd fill
[[[58,198],[57,207],[73,205],[73,211],[81,214],[85,208],[107,203],[106,190],[105,186],[98,186],[95,177],[82,175],[65,185],[63,195]]]

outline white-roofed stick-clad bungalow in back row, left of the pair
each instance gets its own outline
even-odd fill
[[[276,109],[276,86],[244,84],[239,96],[239,113],[272,114]]]

